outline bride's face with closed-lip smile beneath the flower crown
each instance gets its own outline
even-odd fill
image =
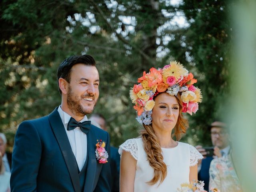
[[[172,131],[177,123],[180,106],[175,96],[167,93],[159,94],[152,110],[152,127],[155,131]]]

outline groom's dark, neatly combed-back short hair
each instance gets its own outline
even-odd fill
[[[70,83],[70,73],[71,68],[75,64],[85,64],[89,66],[95,66],[96,62],[94,58],[90,55],[73,55],[69,58],[66,58],[64,61],[61,62],[61,64],[58,67],[57,71],[57,81],[59,81],[59,78],[65,79],[68,83]],[[58,82],[59,85],[59,82]],[[59,87],[59,86],[58,86]],[[59,88],[60,94],[62,93]]]

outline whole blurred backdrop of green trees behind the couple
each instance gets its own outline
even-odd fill
[[[188,25],[171,20],[183,13]],[[138,136],[129,89],[150,67],[170,60],[195,74],[204,101],[184,140],[209,144],[206,126],[228,91],[228,19],[224,1],[18,0],[0,2],[0,131],[12,145],[18,124],[60,104],[56,70],[64,58],[90,54],[100,73],[95,112],[112,144]]]

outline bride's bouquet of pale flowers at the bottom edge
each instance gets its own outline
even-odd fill
[[[204,190],[204,181],[193,181],[191,183],[182,183],[176,192],[207,192]],[[217,188],[211,188],[210,192],[220,192]]]

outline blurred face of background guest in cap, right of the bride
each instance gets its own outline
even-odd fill
[[[212,144],[220,149],[228,146],[229,135],[225,129],[220,127],[211,128]]]

